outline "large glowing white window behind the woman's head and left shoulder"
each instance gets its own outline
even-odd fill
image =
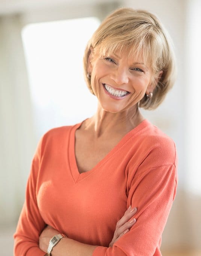
[[[83,53],[97,18],[29,24],[22,31],[37,136],[92,116],[97,99],[83,78]]]

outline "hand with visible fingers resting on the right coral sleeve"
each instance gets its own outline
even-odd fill
[[[115,233],[114,233],[112,241],[109,244],[109,247],[112,247],[113,244],[121,236],[123,236],[125,233],[127,233],[129,231],[129,229],[133,226],[133,224],[135,224],[135,222],[136,222],[135,218],[130,220],[130,222],[133,220],[133,222],[131,222],[131,223],[128,220],[133,215],[135,215],[136,212],[137,212],[137,208],[136,207],[135,208],[131,208],[131,206],[128,207],[128,209],[124,213],[124,216],[121,219],[119,219],[119,221],[116,223]]]

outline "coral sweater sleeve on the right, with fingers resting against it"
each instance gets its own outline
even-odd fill
[[[113,247],[98,246],[92,256],[161,255],[156,250],[159,250],[176,188],[175,164],[150,168],[135,175],[127,199],[127,205],[138,207],[135,225]]]

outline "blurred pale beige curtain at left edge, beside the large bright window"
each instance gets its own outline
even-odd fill
[[[0,227],[18,218],[35,148],[20,16],[0,17]]]

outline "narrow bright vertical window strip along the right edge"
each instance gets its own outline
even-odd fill
[[[201,82],[200,82],[200,59],[201,59],[201,2],[200,0],[188,1],[188,26],[187,26],[187,188],[194,194],[201,195]]]

